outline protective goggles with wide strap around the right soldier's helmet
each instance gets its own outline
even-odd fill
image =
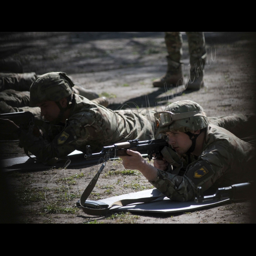
[[[191,111],[191,112],[177,113],[177,114],[174,114],[170,111],[163,111],[163,112],[155,113],[154,116],[155,116],[155,125],[157,129],[159,127],[171,125],[172,123],[174,123],[174,121],[186,119],[190,117],[203,116],[207,118],[206,113],[203,111]]]

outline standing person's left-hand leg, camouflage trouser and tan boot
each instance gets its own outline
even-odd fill
[[[182,84],[180,79],[183,77],[182,73],[182,35],[180,32],[165,32],[165,43],[167,47],[167,74],[162,78],[153,81],[154,87],[164,87],[166,83],[168,86],[176,86]]]

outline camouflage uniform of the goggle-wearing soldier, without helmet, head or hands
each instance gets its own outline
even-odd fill
[[[209,120],[214,120],[220,126],[228,128],[242,125],[242,119],[247,125],[248,117],[253,115],[246,116],[209,118]],[[169,166],[166,172],[158,170],[157,179],[150,183],[170,199],[186,202],[194,199],[197,187],[202,187],[203,191],[206,191],[209,188],[248,182],[252,173],[247,165],[255,157],[255,147],[252,142],[247,143],[226,129],[210,124],[202,154],[199,157],[193,155],[189,157],[188,155],[181,157],[185,168],[184,176],[174,175],[175,168]]]

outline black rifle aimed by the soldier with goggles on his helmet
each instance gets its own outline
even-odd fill
[[[139,140],[129,140],[128,142],[117,143],[112,146],[103,147],[101,152],[96,154],[92,154],[91,147],[87,146],[86,155],[84,158],[87,160],[104,158],[106,161],[110,158],[128,155],[126,151],[129,149],[132,151],[137,151],[142,155],[148,155],[148,159],[151,161],[153,155],[155,155],[156,158],[162,156],[161,151],[165,146],[168,147],[169,144],[163,139],[146,140],[141,142]]]

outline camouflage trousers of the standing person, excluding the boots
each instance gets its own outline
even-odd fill
[[[204,39],[204,32],[186,32],[188,36],[189,54],[191,71],[201,65],[204,69],[206,63],[206,44]],[[182,57],[182,35],[180,32],[165,32],[165,42],[167,46],[167,61],[168,61],[168,72],[177,74],[181,67]],[[198,69],[202,72],[201,68]]]

